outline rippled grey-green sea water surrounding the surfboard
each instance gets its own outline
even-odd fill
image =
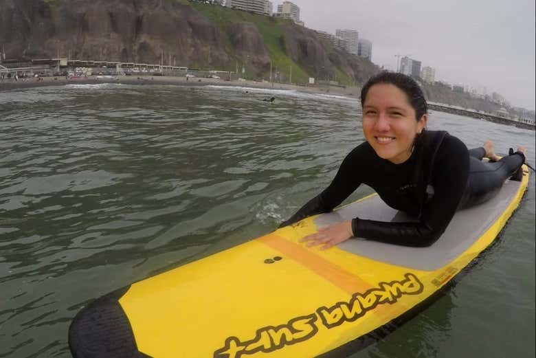
[[[0,92],[0,357],[70,357],[91,299],[271,232],[364,141],[355,100],[245,91]],[[429,128],[535,163],[534,131],[439,112]],[[535,357],[534,183],[454,288],[350,357]]]

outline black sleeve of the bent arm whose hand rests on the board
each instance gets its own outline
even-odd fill
[[[445,137],[434,161],[434,197],[425,204],[421,218],[412,223],[352,220],[359,238],[410,247],[432,245],[445,232],[454,216],[469,177],[469,152],[456,137]]]

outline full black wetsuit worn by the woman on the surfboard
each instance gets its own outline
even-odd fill
[[[504,181],[524,163],[523,153],[495,163],[481,161],[484,148],[467,150],[460,139],[441,131],[425,131],[412,155],[402,164],[381,159],[364,142],[342,162],[335,179],[289,220],[331,212],[361,183],[376,190],[391,208],[416,221],[388,223],[355,218],[355,237],[412,247],[432,245],[445,232],[454,213],[493,197]]]

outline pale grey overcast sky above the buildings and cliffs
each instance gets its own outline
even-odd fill
[[[372,62],[396,54],[436,69],[436,80],[496,91],[535,109],[535,0],[290,0],[306,27],[359,31]],[[274,9],[282,0],[273,0]]]

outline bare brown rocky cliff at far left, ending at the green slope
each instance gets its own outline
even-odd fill
[[[230,63],[223,34],[188,5],[159,0],[1,0],[8,58]],[[209,54],[210,49],[210,54]]]

